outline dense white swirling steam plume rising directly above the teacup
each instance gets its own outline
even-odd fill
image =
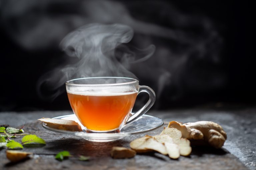
[[[133,29],[122,24],[88,24],[69,33],[60,43],[61,48],[78,62],[58,68],[42,76],[38,83],[38,92],[43,98],[56,98],[64,90],[60,87],[65,81],[84,77],[130,77],[137,78],[127,70],[130,63],[147,60],[155,51],[150,45],[140,51],[140,55],[130,51],[123,43],[130,42]],[[118,57],[115,49],[119,45]],[[137,49],[138,50],[138,49]],[[144,54],[142,57],[141,54]],[[138,58],[139,57],[139,58]],[[136,59],[138,58],[138,59]],[[52,90],[52,95],[43,95],[42,89]]]

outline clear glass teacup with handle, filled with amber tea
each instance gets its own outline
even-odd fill
[[[125,77],[79,78],[66,82],[71,108],[87,132],[120,132],[136,121],[155,102],[155,93],[139,81]],[[149,94],[148,102],[136,113],[132,109],[140,92]]]

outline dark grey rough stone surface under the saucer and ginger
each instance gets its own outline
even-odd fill
[[[227,132],[228,139],[222,149],[193,147],[189,157],[181,156],[172,160],[159,153],[138,154],[131,159],[112,159],[112,146],[129,147],[131,140],[145,134],[128,136],[113,142],[91,142],[83,138],[48,131],[36,121],[42,117],[56,117],[71,114],[61,112],[5,112],[0,113],[0,125],[9,124],[20,127],[26,122],[25,132],[36,134],[46,140],[46,145],[24,147],[23,151],[34,155],[19,163],[10,163],[5,157],[5,149],[0,150],[0,169],[256,169],[255,133],[256,108],[247,109],[183,109],[154,111],[149,115],[162,118],[167,126],[171,120],[187,123],[201,120],[220,124]],[[162,131],[158,128],[146,134],[155,135]],[[16,141],[20,141],[21,137]],[[54,159],[56,153],[68,150],[73,155],[63,162]],[[78,156],[91,156],[89,161],[79,161]],[[244,166],[245,165],[245,166]]]

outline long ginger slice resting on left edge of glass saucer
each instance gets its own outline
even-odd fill
[[[41,118],[38,120],[46,123],[46,125],[50,128],[68,131],[82,131],[81,126],[75,121],[51,118]]]

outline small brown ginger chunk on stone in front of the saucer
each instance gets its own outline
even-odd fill
[[[134,150],[126,148],[126,147],[115,146],[112,148],[110,155],[114,159],[132,158],[136,155],[136,152]]]

